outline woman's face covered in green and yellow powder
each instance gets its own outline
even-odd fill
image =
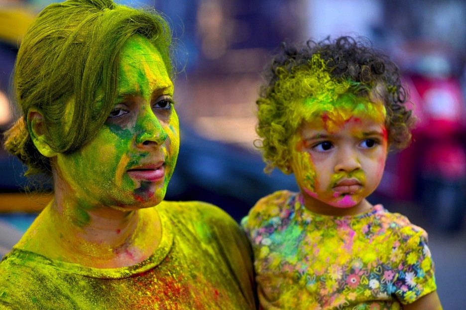
[[[165,197],[179,149],[173,83],[142,36],[130,38],[119,60],[118,98],[94,139],[55,161],[55,191],[83,206],[152,207]]]

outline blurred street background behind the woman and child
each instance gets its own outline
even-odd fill
[[[0,1],[0,132],[17,117],[9,79],[33,16],[49,0]],[[260,72],[283,41],[362,35],[392,56],[420,119],[411,146],[391,153],[371,203],[429,232],[444,309],[466,295],[466,1],[150,0],[177,38],[175,100],[181,148],[168,200],[202,200],[239,221],[261,197],[297,190],[293,176],[263,173],[254,148]],[[0,256],[50,200],[24,194],[24,168],[0,150]]]

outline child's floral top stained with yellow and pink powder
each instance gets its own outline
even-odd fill
[[[263,309],[394,310],[436,290],[427,233],[381,205],[327,216],[279,191],[241,224]]]

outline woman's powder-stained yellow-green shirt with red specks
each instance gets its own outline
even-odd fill
[[[89,268],[13,248],[0,263],[0,309],[256,309],[250,247],[237,223],[200,202],[156,209],[160,245],[135,266]]]

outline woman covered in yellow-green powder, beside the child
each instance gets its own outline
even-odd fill
[[[111,0],[33,22],[5,147],[53,176],[54,199],[0,263],[0,309],[255,309],[236,222],[163,201],[179,146],[170,46],[158,13]]]

